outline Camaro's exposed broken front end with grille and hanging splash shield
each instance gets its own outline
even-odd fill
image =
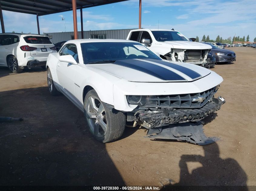
[[[214,97],[218,88],[198,94],[161,95],[142,97],[141,106],[127,113],[127,121],[148,129],[148,138],[175,139],[207,145],[219,140],[206,137],[200,122],[212,116],[225,103]]]

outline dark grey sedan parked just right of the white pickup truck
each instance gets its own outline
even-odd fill
[[[236,54],[232,50],[220,49],[211,43],[204,43],[212,46],[210,53],[212,53],[217,63],[228,63],[236,61]]]

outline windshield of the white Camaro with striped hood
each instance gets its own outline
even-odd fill
[[[126,42],[97,42],[81,43],[81,49],[85,64],[98,61],[116,61],[124,59],[157,59],[151,52],[140,43]],[[99,63],[99,62],[98,62]]]

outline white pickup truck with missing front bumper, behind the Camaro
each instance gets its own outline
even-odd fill
[[[192,42],[176,30],[137,29],[131,30],[127,40],[147,46],[162,59],[204,66],[211,49],[208,44]]]

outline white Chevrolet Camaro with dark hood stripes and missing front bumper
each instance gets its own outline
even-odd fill
[[[135,41],[69,40],[48,56],[46,67],[50,93],[61,92],[84,112],[100,142],[119,138],[126,125],[157,134],[172,124],[194,124],[224,103],[214,98],[221,76],[162,60]]]

